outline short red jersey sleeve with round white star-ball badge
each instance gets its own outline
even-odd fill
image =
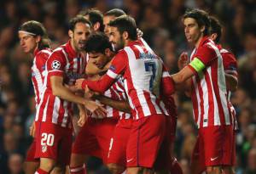
[[[66,64],[67,60],[63,53],[52,53],[46,62],[48,76],[64,76],[64,69]]]

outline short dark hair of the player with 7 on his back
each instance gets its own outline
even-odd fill
[[[128,37],[131,40],[137,40],[137,25],[135,20],[129,15],[121,15],[115,20],[112,20],[108,24],[109,26],[117,27],[120,34],[124,31],[128,32]]]

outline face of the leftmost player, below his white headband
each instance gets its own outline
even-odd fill
[[[38,46],[37,36],[19,32],[20,46],[25,53],[33,53]]]

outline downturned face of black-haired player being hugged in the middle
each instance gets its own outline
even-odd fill
[[[99,69],[104,68],[104,66],[108,63],[108,56],[104,53],[89,53],[89,58],[92,59],[92,63],[96,65]]]

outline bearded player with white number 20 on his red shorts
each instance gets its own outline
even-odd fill
[[[36,115],[36,158],[40,166],[36,173],[47,174],[54,166],[65,171],[69,164],[72,146],[73,103],[81,104],[90,112],[105,115],[106,110],[89,99],[72,93],[67,85],[84,75],[84,50],[86,37],[90,35],[90,21],[75,17],[69,21],[70,40],[56,48],[46,62],[44,90]],[[79,123],[83,125],[84,117]]]

